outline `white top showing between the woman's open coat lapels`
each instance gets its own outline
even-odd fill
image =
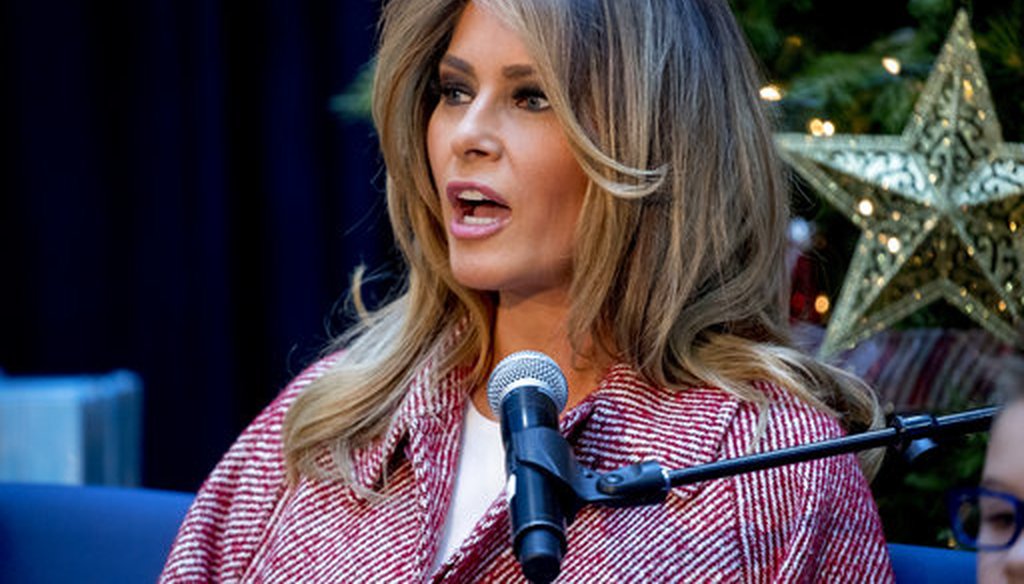
[[[498,422],[488,420],[467,400],[459,445],[455,492],[441,532],[434,567],[440,566],[469,536],[505,487],[505,447]]]

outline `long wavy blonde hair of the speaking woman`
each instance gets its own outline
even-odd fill
[[[850,430],[879,423],[858,379],[792,348],[786,182],[760,79],[724,0],[474,0],[515,31],[590,187],[575,234],[569,336],[650,383],[711,384],[763,404],[767,380]],[[317,474],[324,447],[350,478],[350,453],[388,427],[427,361],[443,376],[492,363],[493,294],[453,277],[426,150],[437,65],[466,0],[384,8],[373,112],[387,167],[406,286],[329,351],[347,350],[290,408],[290,476]],[[459,333],[456,334],[458,329]],[[442,347],[440,349],[439,347]],[[878,456],[862,457],[868,475]]]

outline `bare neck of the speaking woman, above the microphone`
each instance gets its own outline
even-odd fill
[[[569,343],[568,295],[551,292],[529,298],[510,298],[503,295],[498,303],[494,329],[494,365],[518,350],[539,350],[555,360],[568,384],[568,405],[582,402],[597,388],[597,383],[611,364],[609,358],[599,354],[582,356]],[[592,346],[584,339],[584,346]],[[478,387],[473,403],[483,415],[494,419],[486,406],[486,387]]]

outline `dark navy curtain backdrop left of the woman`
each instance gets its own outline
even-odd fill
[[[330,110],[379,3],[0,6],[0,368],[140,373],[147,486],[195,490],[386,266],[373,130]]]

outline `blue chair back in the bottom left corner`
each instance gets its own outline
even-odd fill
[[[193,495],[0,484],[0,580],[155,582]]]

